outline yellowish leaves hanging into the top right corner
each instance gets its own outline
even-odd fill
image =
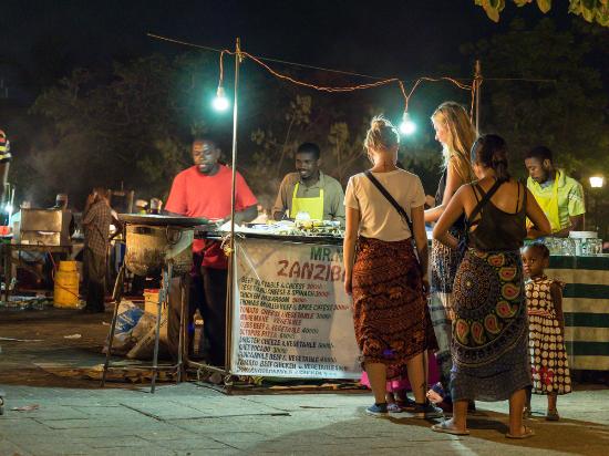
[[[533,0],[512,0],[517,7],[533,3]],[[474,0],[475,4],[493,21],[499,21],[499,13],[505,8],[505,0]],[[551,0],[536,0],[537,7],[544,13],[551,9]],[[582,17],[587,22],[597,22],[609,27],[609,0],[569,0],[569,12]]]

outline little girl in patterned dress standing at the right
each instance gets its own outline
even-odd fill
[[[571,377],[565,349],[564,283],[544,274],[548,263],[549,250],[546,246],[534,243],[523,250],[523,268],[529,277],[525,290],[533,374],[533,387],[527,394],[525,416],[530,416],[530,394],[546,394],[546,419],[558,421],[556,401],[559,394],[571,392]]]

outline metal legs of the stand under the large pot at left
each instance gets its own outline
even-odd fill
[[[163,287],[159,290],[158,293],[158,303],[157,303],[157,311],[156,311],[156,331],[155,331],[155,338],[154,338],[154,355],[153,355],[153,364],[152,366],[143,366],[143,365],[134,365],[132,369],[137,370],[148,370],[152,369],[152,382],[151,382],[151,393],[154,394],[155,387],[156,387],[156,376],[161,369],[166,370],[175,370],[176,371],[176,383],[182,382],[182,372],[184,370],[184,362],[183,362],[183,352],[184,352],[184,315],[185,315],[185,303],[186,303],[186,293],[184,289],[184,283],[180,284],[179,291],[180,291],[180,307],[182,312],[179,317],[179,325],[182,328],[182,331],[179,331],[179,339],[178,339],[178,354],[177,354],[177,364],[169,365],[169,366],[159,366],[158,365],[158,342],[161,339],[161,318],[163,314],[163,304],[168,307],[169,301],[169,288],[172,283],[172,277],[173,277],[173,262],[169,260],[165,265],[165,268],[163,269]],[[114,301],[114,312],[112,314],[112,323],[110,325],[110,332],[107,334],[106,345],[107,345],[107,352],[105,356],[104,362],[104,370],[102,373],[102,382],[101,386],[105,386],[106,381],[106,374],[110,369],[113,369],[110,365],[110,356],[112,355],[112,342],[114,340],[114,332],[116,330],[116,318],[118,314],[118,305],[121,304],[122,299],[122,289],[123,289],[123,280],[125,274],[125,263],[121,266],[121,270],[118,271],[118,276],[116,277],[116,282],[114,283],[114,291],[112,293],[112,300]],[[184,281],[182,281],[184,282]]]

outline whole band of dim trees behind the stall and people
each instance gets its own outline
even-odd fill
[[[609,31],[598,25],[577,21],[571,30],[558,30],[545,18],[533,29],[514,21],[506,33],[463,48],[483,63],[482,129],[507,138],[517,174],[524,175],[522,154],[546,144],[569,172],[609,175],[602,153],[609,148],[608,39]],[[79,201],[93,185],[124,183],[140,197],[163,198],[175,174],[190,165],[189,144],[200,133],[218,139],[228,160],[231,116],[206,107],[218,83],[217,60],[206,55],[152,55],[106,71],[74,70],[34,103],[32,112],[49,127],[32,132],[28,169],[13,169],[18,188],[44,183],[43,190],[69,191]],[[237,166],[267,207],[293,170],[300,143],[318,143],[322,170],[344,185],[369,165],[363,138],[370,118],[381,113],[396,118],[403,110],[395,87],[320,93],[269,77],[247,60],[242,74]],[[230,73],[226,77],[229,87]],[[331,77],[342,76],[304,76],[326,85],[352,82]],[[435,191],[441,159],[429,116],[446,100],[468,104],[469,93],[426,84],[410,103],[420,131],[404,139],[400,159],[421,176],[427,193]]]

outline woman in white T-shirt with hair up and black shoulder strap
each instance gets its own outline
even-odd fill
[[[351,176],[347,185],[343,257],[355,340],[374,393],[367,413],[388,414],[388,371],[400,372],[405,365],[415,416],[437,417],[442,411],[425,398],[424,353],[435,349],[425,300],[425,193],[419,176],[396,166],[400,135],[391,122],[374,117],[364,146],[373,166]]]

